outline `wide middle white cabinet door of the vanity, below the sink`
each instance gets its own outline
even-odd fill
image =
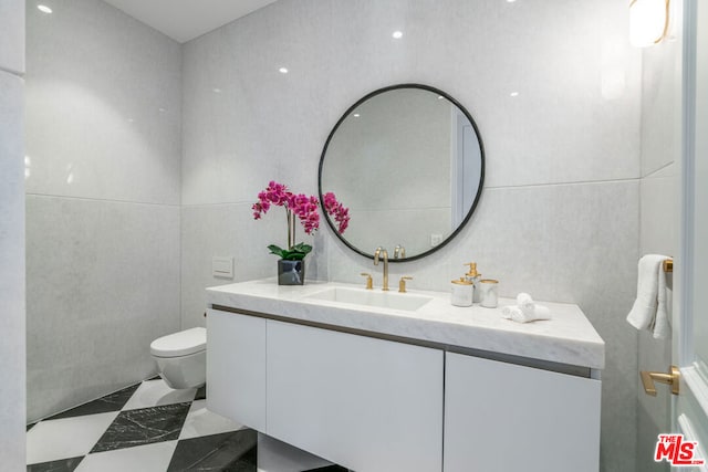
[[[444,355],[268,322],[268,436],[362,472],[435,472]]]

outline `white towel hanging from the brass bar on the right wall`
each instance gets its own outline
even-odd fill
[[[647,254],[639,259],[637,298],[627,315],[627,322],[637,329],[647,329],[657,339],[670,332],[666,305],[666,274],[663,263],[667,258]]]

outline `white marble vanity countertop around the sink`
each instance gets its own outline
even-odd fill
[[[308,298],[330,287],[362,289],[313,281],[285,286],[278,285],[275,279],[266,279],[207,289],[207,300],[209,305],[272,314],[293,322],[329,324],[593,369],[605,365],[605,343],[577,305],[539,302],[550,308],[552,319],[516,323],[501,316],[501,307],[516,303],[510,298],[500,298],[497,308],[458,307],[450,304],[448,293],[412,290],[408,292],[412,295],[431,298],[416,311]]]

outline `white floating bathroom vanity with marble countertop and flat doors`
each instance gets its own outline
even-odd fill
[[[207,290],[207,406],[357,472],[594,471],[604,343],[576,305],[518,324],[449,294]]]

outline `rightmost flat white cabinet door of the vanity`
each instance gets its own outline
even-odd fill
[[[600,380],[446,355],[445,472],[597,472]]]

